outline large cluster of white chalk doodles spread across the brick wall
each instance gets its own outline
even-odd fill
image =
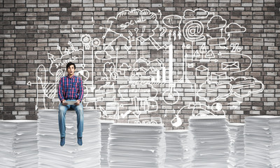
[[[103,31],[102,38],[81,34],[78,43],[72,39],[68,47],[57,45],[59,57],[48,53],[49,68],[38,66],[36,82],[27,82],[30,87],[36,84],[36,109],[40,102],[47,108],[45,99],[55,102],[57,81],[66,75],[68,62],[78,64],[76,75],[85,85],[83,104],[102,111],[103,118],[134,117],[129,123],[162,123],[160,117],[141,115],[172,106],[175,117],[169,122],[179,127],[182,111],[192,111],[193,116],[225,115],[226,110],[238,109],[243,98],[264,90],[256,78],[238,76],[251,67],[252,58],[230,37],[244,33],[246,27],[200,8],[182,14],[123,10],[102,25],[92,17],[92,26]],[[150,50],[161,57],[153,57]],[[96,63],[102,70],[94,72]],[[47,81],[49,74],[55,80]],[[194,99],[185,100],[189,92]],[[238,100],[223,103],[229,97]],[[164,110],[162,116],[167,118]]]

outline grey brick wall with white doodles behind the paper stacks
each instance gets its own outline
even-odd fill
[[[0,119],[36,119],[37,109],[57,108],[57,78],[65,74],[59,62],[70,59],[87,89],[84,106],[106,111],[105,118],[116,118],[116,109],[129,113],[119,122],[141,114],[172,129],[178,113],[182,129],[192,113],[225,111],[232,123],[280,113],[279,0],[0,0],[0,6]],[[238,62],[238,69],[226,62]]]

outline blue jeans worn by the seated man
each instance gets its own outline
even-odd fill
[[[75,101],[75,100],[74,100]],[[66,111],[68,109],[74,109],[77,114],[77,137],[83,137],[83,104],[80,103],[78,106],[76,105],[62,105],[62,103],[59,104],[58,107],[58,124],[59,124],[59,132],[60,137],[65,137],[65,116]]]

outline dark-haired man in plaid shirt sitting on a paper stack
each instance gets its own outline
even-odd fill
[[[60,100],[59,111],[58,111],[58,123],[60,132],[60,146],[65,144],[65,116],[68,109],[74,109],[77,114],[77,139],[78,145],[83,145],[83,80],[78,76],[74,75],[76,70],[76,65],[69,62],[66,65],[66,70],[68,72],[67,76],[62,77],[59,80],[58,87],[58,98]],[[67,101],[76,101],[75,104],[70,105],[66,103]]]

